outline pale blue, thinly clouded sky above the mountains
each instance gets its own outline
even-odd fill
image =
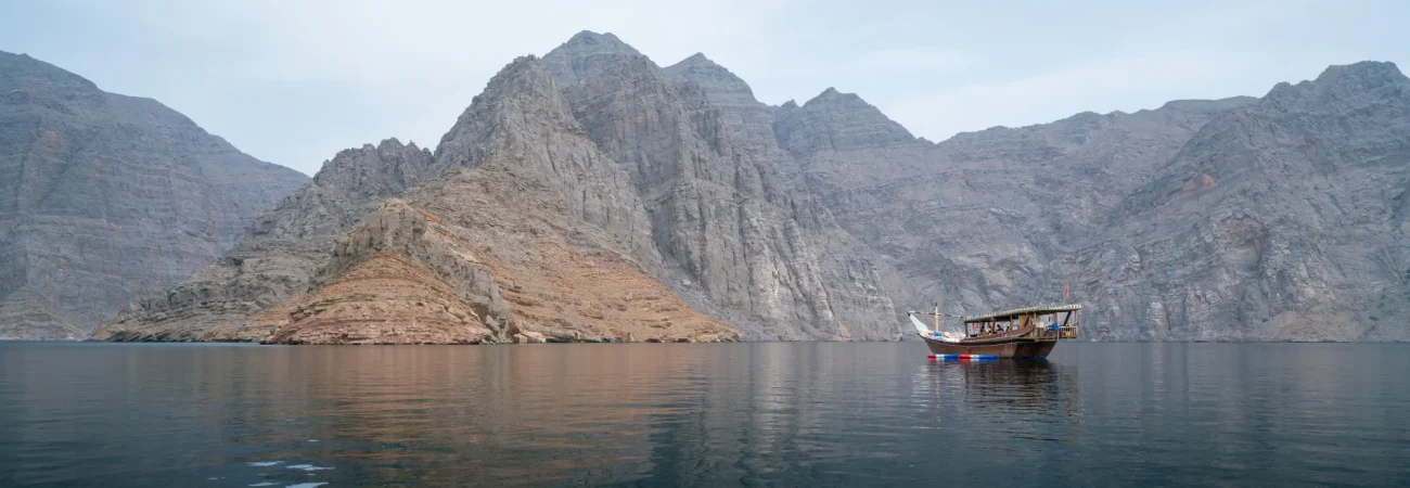
[[[582,30],[661,66],[704,52],[768,104],[857,93],[940,141],[1262,96],[1328,65],[1404,69],[1406,27],[1404,0],[0,0],[0,51],[157,99],[310,175],[389,137],[434,148],[495,72]]]

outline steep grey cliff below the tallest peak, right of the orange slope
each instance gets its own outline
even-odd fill
[[[660,69],[612,39],[582,32],[544,61],[571,68],[556,78],[572,114],[630,175],[663,281],[752,338],[898,337],[884,264],[790,171],[747,85],[704,56]]]

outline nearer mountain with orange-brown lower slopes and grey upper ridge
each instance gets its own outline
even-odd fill
[[[233,252],[97,338],[736,338],[651,275],[661,258],[627,185],[544,63],[520,58],[434,155],[395,140],[341,152]]]

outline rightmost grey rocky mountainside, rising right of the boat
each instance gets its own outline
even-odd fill
[[[1410,79],[1332,66],[1206,124],[1076,254],[1103,336],[1406,340]]]

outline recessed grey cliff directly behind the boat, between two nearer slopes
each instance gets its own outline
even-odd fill
[[[780,107],[776,130],[843,227],[894,260],[898,302],[977,313],[1060,300],[1074,276],[1055,264],[1110,228],[1107,209],[1204,123],[1251,100],[1084,113],[931,144],[829,89]]]

